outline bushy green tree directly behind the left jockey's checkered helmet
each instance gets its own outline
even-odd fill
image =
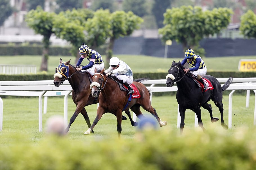
[[[60,12],[53,21],[55,35],[71,43],[71,53],[77,59],[80,57],[78,48],[85,41],[86,20],[92,17],[93,11],[89,9],[73,9]]]

